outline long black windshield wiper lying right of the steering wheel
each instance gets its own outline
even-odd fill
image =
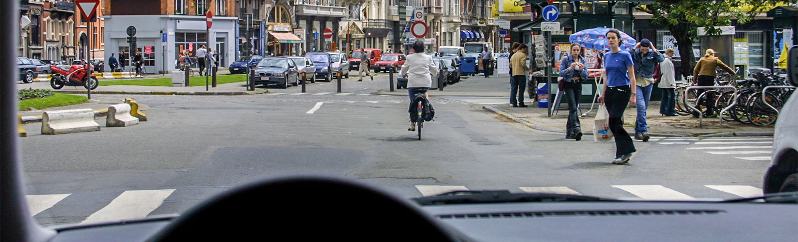
[[[611,198],[556,193],[510,193],[508,190],[455,191],[413,198],[420,205],[452,205],[504,202],[620,201]]]

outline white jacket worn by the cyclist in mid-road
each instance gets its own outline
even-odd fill
[[[433,57],[426,53],[412,53],[401,67],[399,76],[407,75],[408,88],[429,88],[433,85],[433,76],[438,76],[438,66]],[[430,76],[432,75],[432,76]]]

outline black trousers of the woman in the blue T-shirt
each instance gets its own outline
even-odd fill
[[[631,88],[629,86],[607,88],[605,95],[604,104],[606,111],[610,113],[610,131],[615,136],[615,158],[637,151],[629,133],[623,129],[623,111],[629,105]]]

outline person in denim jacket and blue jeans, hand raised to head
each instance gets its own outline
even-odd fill
[[[651,45],[651,41],[643,39],[634,45],[634,79],[637,80],[638,118],[634,122],[634,139],[648,142],[648,123],[646,109],[650,104],[651,90],[654,89],[654,68],[665,58]],[[634,107],[634,105],[633,105]]]

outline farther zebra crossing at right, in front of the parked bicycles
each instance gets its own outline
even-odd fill
[[[681,145],[685,146],[685,150],[725,155],[746,161],[770,161],[773,149],[771,137],[666,138],[660,139],[657,144]]]

